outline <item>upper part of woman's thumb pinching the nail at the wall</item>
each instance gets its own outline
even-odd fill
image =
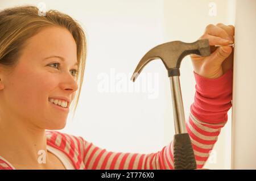
[[[215,52],[212,53],[212,57],[214,61],[222,64],[222,62],[228,58],[228,56],[232,53],[232,47],[230,46],[221,46],[218,47]]]

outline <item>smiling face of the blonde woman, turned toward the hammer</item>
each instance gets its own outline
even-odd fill
[[[1,114],[42,129],[64,128],[78,88],[76,53],[76,42],[65,28],[47,27],[28,39],[18,65],[10,74],[1,73]],[[62,108],[50,99],[69,103]]]

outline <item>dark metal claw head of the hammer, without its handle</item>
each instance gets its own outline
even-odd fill
[[[184,43],[182,41],[171,41],[160,44],[149,50],[137,65],[131,80],[134,82],[144,66],[151,60],[160,58],[168,70],[168,77],[179,76],[181,60],[188,54],[197,54],[199,56],[210,55],[210,45],[208,39],[197,40],[193,43]]]

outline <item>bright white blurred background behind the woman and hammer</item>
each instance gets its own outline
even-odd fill
[[[28,1],[1,0],[0,8],[46,5],[75,18],[88,43],[80,102],[63,132],[82,136],[109,151],[153,153],[173,139],[170,81],[162,61],[148,64],[130,81],[139,60],[156,45],[203,35],[208,24],[233,24],[236,1]],[[195,96],[189,56],[180,68],[185,117]],[[222,129],[205,168],[231,168],[231,118]]]

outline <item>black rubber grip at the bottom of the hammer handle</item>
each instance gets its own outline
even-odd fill
[[[195,154],[188,133],[174,135],[174,169],[196,169]]]

